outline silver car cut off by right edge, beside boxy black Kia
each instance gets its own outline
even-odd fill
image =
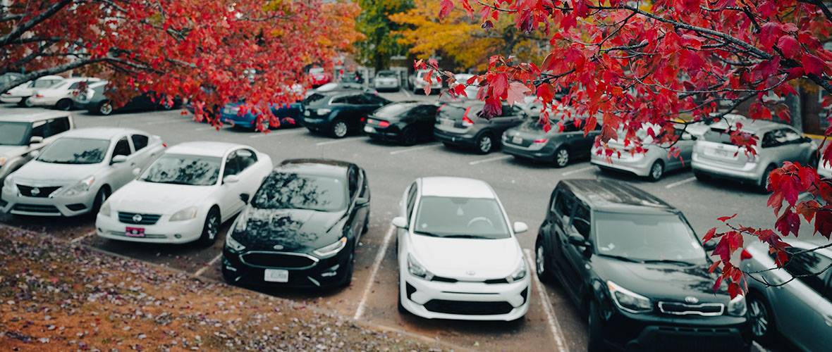
[[[797,253],[829,243],[819,237],[790,239],[789,243],[794,247],[786,247],[789,261],[784,267],[748,274],[760,281],[782,285],[767,286],[753,278],[747,279],[751,332],[755,340],[785,337],[800,350],[828,351],[832,346],[832,271],[824,270],[832,265],[832,250],[822,248]],[[776,267],[766,243],[755,242],[746,250],[751,259],[742,262],[743,271]],[[793,276],[815,273],[820,274],[792,280]]]

